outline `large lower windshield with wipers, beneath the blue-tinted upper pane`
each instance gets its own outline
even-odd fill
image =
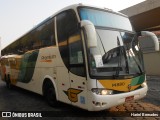
[[[144,72],[142,53],[133,33],[96,29],[98,45],[89,48],[92,76],[137,75]]]

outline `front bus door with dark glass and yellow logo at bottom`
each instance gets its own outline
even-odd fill
[[[69,48],[69,79],[71,87],[68,98],[73,105],[86,108],[87,87],[83,47],[80,34],[71,36],[68,40]]]

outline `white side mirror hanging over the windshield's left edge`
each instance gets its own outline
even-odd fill
[[[97,47],[97,36],[93,23],[89,20],[82,20],[80,25],[85,29],[88,48]]]

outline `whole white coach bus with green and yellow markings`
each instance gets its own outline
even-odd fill
[[[71,5],[2,50],[1,77],[89,111],[143,98],[147,93],[138,36],[127,16]]]

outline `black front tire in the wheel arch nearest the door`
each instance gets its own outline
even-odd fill
[[[56,92],[52,83],[47,83],[44,88],[44,97],[47,103],[52,107],[57,107]]]

